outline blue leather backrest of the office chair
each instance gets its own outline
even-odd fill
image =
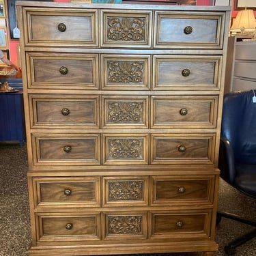
[[[256,89],[233,91],[224,96],[221,137],[230,141],[236,162],[256,164],[255,95]]]

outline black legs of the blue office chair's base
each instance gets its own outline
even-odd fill
[[[256,227],[256,221],[250,220],[248,218],[241,218],[240,216],[236,214],[230,214],[228,212],[218,212],[217,218],[216,218],[216,225],[221,222],[221,218],[229,218],[234,221],[239,221],[240,223],[244,223],[246,225],[250,225],[253,227]],[[232,240],[229,242],[224,250],[227,255],[234,255],[236,253],[236,247],[248,242],[249,240],[256,237],[256,229],[253,229],[251,232],[245,233],[243,236],[240,236],[239,238],[236,238],[235,240]]]

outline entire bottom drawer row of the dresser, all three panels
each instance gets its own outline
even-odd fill
[[[208,239],[212,211],[36,213],[38,242]],[[102,221],[101,221],[102,220]],[[100,233],[102,227],[102,235]]]

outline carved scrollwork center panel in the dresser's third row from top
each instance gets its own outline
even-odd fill
[[[148,128],[148,98],[103,96],[103,128]]]

